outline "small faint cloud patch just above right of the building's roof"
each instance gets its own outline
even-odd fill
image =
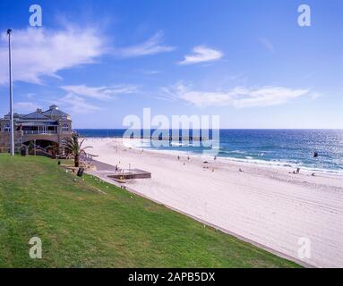
[[[73,94],[60,98],[57,104],[61,105],[64,110],[71,114],[92,114],[100,109],[98,106],[87,103],[83,97]]]

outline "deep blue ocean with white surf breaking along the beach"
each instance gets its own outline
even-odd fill
[[[91,138],[120,138],[124,134],[124,130],[76,131]],[[147,148],[195,155],[201,155],[206,149],[178,141],[168,147]],[[343,174],[343,130],[220,130],[218,156],[253,164]]]

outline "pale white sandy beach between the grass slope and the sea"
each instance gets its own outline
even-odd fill
[[[226,159],[211,159],[204,169],[201,157],[178,161],[167,152],[129,149],[122,139],[86,144],[101,162],[152,172],[152,179],[127,183],[148,198],[296,259],[299,239],[308,239],[305,263],[343,267],[342,177]]]

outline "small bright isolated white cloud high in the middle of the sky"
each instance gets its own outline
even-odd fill
[[[211,49],[206,46],[195,46],[192,55],[185,55],[184,61],[179,64],[205,63],[219,60],[223,53],[219,50]]]

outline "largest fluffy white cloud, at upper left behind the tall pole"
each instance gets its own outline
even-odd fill
[[[42,84],[43,76],[94,63],[106,52],[103,38],[94,29],[16,29],[12,34],[13,80]],[[7,36],[0,38],[0,84],[8,82]]]

